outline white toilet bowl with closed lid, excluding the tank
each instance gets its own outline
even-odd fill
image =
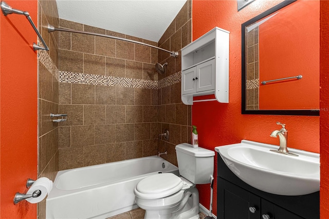
[[[144,218],[199,218],[199,194],[184,177],[163,173],[142,179],[134,189]]]

